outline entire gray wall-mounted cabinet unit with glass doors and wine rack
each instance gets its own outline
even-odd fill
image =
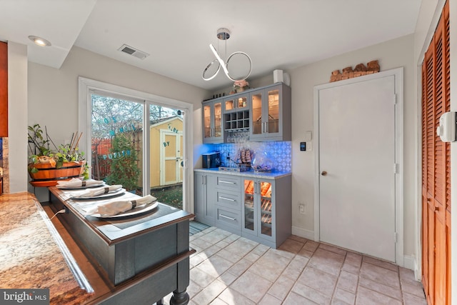
[[[203,103],[203,143],[248,131],[250,141],[291,141],[291,87],[276,83]],[[230,141],[226,136],[226,141]]]

